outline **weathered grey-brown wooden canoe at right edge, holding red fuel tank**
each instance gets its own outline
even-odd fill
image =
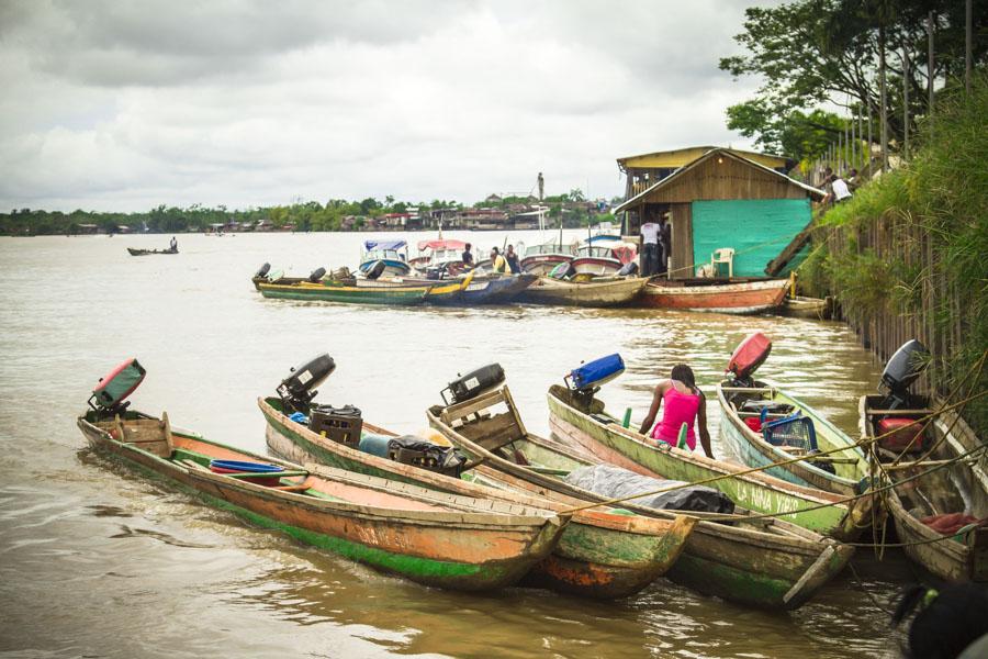
[[[912,396],[916,405],[909,413],[890,416],[921,418],[930,413],[925,396]],[[864,395],[858,412],[862,436],[878,435],[883,396]],[[877,412],[877,413],[876,413]],[[907,454],[895,469],[885,470],[892,482],[901,483],[888,491],[886,506],[896,524],[903,550],[916,563],[946,581],[988,581],[988,528],[984,525],[959,535],[944,536],[921,520],[932,515],[965,513],[977,520],[988,518],[988,457],[978,455],[930,471],[940,460],[953,460],[981,447],[981,440],[953,411],[939,415],[930,424],[928,442],[940,446],[929,459],[916,461],[929,451]],[[941,442],[942,440],[942,442]],[[884,463],[898,454],[876,448]]]

